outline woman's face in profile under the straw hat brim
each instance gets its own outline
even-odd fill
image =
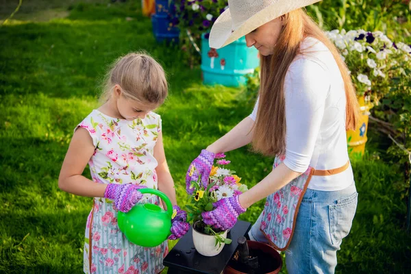
[[[283,21],[282,17],[275,18],[247,34],[245,36],[247,47],[256,47],[264,56],[273,54],[283,27]]]

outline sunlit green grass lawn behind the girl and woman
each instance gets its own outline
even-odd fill
[[[32,14],[48,9],[44,1],[33,2]],[[23,5],[18,20],[0,27],[0,273],[82,273],[92,199],[59,190],[58,173],[75,125],[97,107],[99,80],[119,55],[145,50],[169,75],[171,95],[158,112],[182,205],[191,160],[251,112],[239,99],[241,89],[203,86],[199,67],[188,69],[178,47],[158,45],[149,18],[138,12],[140,1],[87,2],[52,1],[51,8],[67,16],[49,21],[30,17]],[[271,169],[271,159],[247,148],[227,154],[249,187]],[[337,272],[407,273],[411,239],[403,231],[406,206],[395,188],[401,172],[381,160],[353,166],[358,212],[338,253]],[[256,221],[263,205],[241,218]]]

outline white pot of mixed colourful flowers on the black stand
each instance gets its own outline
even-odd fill
[[[225,160],[225,155],[216,155],[216,166],[212,166],[208,186],[201,184],[201,177],[192,181],[190,189],[193,189],[190,203],[186,206],[188,221],[192,223],[192,240],[195,249],[203,256],[216,256],[223,249],[225,244],[230,244],[231,239],[227,238],[227,230],[222,231],[203,221],[201,213],[212,211],[215,203],[224,198],[240,195],[247,191],[245,184],[240,184],[241,178],[235,175],[235,171],[226,169],[230,163]],[[192,166],[190,173],[194,173]]]

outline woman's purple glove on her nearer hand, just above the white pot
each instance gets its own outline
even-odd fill
[[[221,199],[214,203],[214,206],[216,209],[203,212],[201,213],[201,216],[203,216],[203,221],[206,225],[212,225],[221,230],[227,230],[234,227],[238,215],[245,212],[245,209],[242,208],[238,201],[238,195]]]

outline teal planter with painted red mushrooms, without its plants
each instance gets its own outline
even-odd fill
[[[244,36],[222,49],[210,49],[204,36],[201,36],[203,83],[223,86],[246,84],[245,75],[253,73],[260,64],[257,49],[247,47]]]

